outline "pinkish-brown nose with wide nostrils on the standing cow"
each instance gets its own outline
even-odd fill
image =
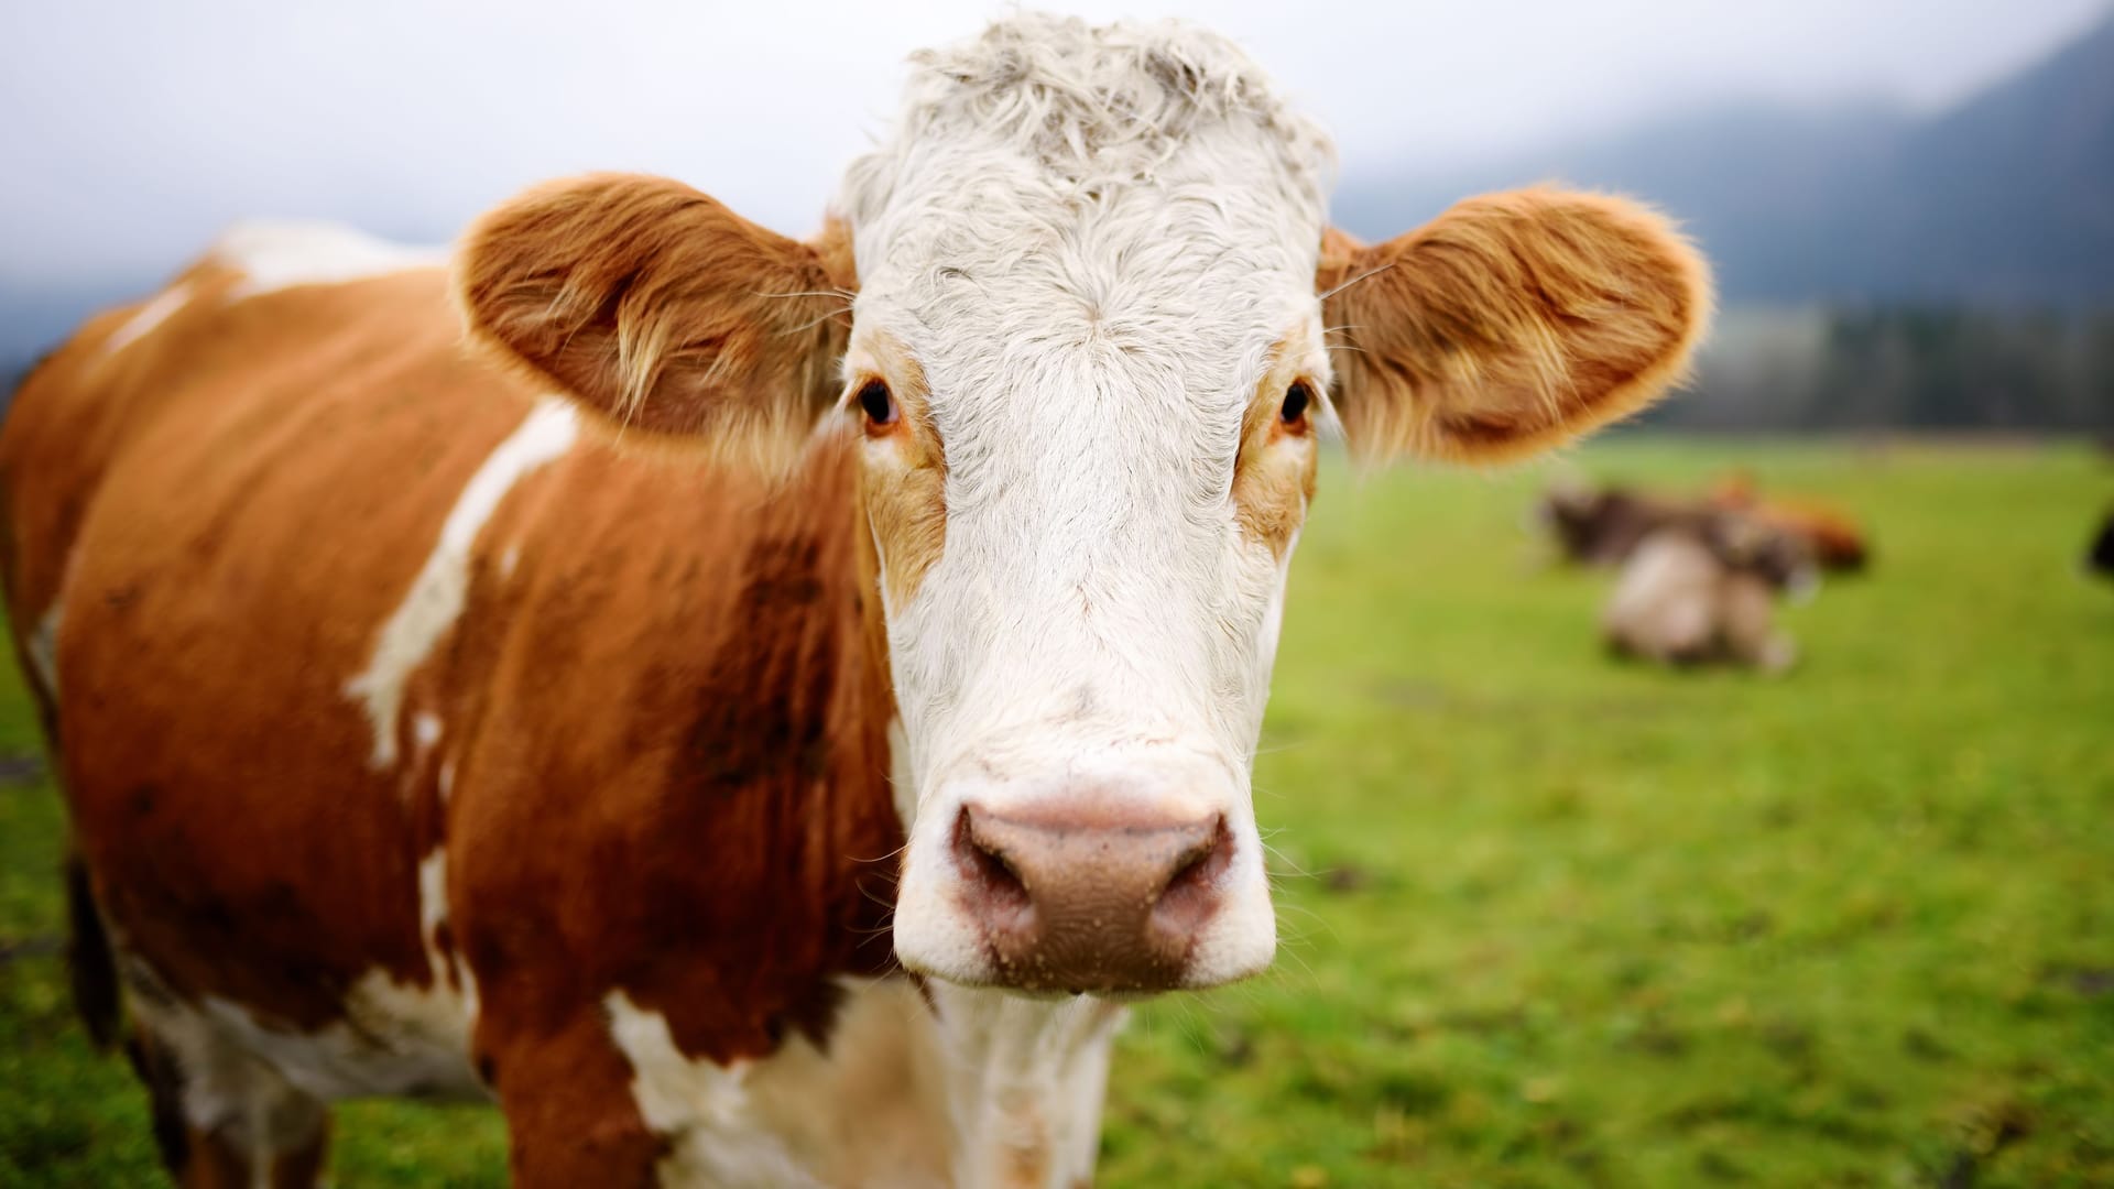
[[[953,829],[962,908],[998,982],[1021,990],[1171,990],[1218,912],[1232,863],[1226,819],[1089,806],[996,812]]]

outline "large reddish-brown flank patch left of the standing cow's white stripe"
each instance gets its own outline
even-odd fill
[[[192,307],[25,391],[0,459],[17,523],[87,508],[36,569],[68,559],[61,772],[97,903],[178,994],[315,1028],[366,971],[431,980],[427,844],[342,685],[524,406],[457,353],[438,271]]]

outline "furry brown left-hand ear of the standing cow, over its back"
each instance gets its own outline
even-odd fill
[[[592,173],[486,214],[455,256],[474,341],[619,427],[797,440],[837,398],[850,248],[765,231],[681,182]]]

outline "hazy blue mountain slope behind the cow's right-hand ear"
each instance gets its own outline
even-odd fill
[[[1385,237],[1539,180],[1679,216],[1727,300],[2114,303],[2114,19],[1960,108],[1714,108],[1480,169],[1353,176],[1336,220]]]

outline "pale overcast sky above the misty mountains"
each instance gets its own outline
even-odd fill
[[[2110,0],[1068,2],[1241,40],[1361,165],[1459,165],[1676,104],[1939,110]],[[915,47],[1006,4],[6,0],[0,281],[137,279],[243,216],[444,237],[537,178],[651,169],[810,231]]]

